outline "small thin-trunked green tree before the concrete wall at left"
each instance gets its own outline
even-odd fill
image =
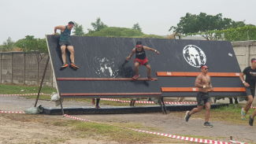
[[[22,48],[24,51],[35,51],[37,60],[37,87],[39,87],[39,64],[48,54],[46,39],[35,39],[34,35],[25,36],[26,39],[20,39],[16,42],[16,46]]]

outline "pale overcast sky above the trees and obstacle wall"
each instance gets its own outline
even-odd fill
[[[256,25],[256,0],[0,0],[0,45],[26,35],[44,38],[54,27],[74,20],[84,32],[100,17],[109,27],[132,28],[145,34],[169,35],[169,28],[186,13],[222,13],[235,21]],[[59,32],[59,31],[58,31]]]

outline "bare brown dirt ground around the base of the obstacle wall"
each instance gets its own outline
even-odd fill
[[[0,97],[0,109],[2,111],[24,111],[33,107],[34,99],[22,97]],[[39,100],[38,105],[43,107],[54,107],[54,102]],[[64,102],[64,107],[94,107],[91,103],[85,102]],[[100,105],[106,107],[107,105]],[[185,112],[180,112],[184,113]],[[0,143],[118,143],[109,141],[107,138],[75,138],[76,133],[69,131],[66,127],[49,126],[42,123],[21,122],[20,120],[9,120],[5,116],[9,113],[2,113],[0,116]],[[26,115],[26,114],[24,114]],[[33,116],[33,115],[28,115]],[[39,116],[39,115],[36,115]],[[42,115],[41,115],[42,116]],[[213,127],[202,127],[204,120],[195,119],[191,116],[188,122],[184,117],[169,112],[162,113],[139,113],[139,114],[111,114],[111,115],[72,115],[86,120],[95,120],[103,123],[140,123],[147,127],[161,127],[161,132],[170,135],[197,135],[209,136],[217,141],[230,142],[229,137],[239,142],[256,142],[256,126],[250,127],[248,121],[243,124],[228,124],[224,121],[210,121]],[[42,118],[65,119],[62,116],[43,115]],[[18,118],[17,118],[18,119]],[[131,127],[132,128],[132,127]],[[154,136],[154,135],[152,135]],[[102,140],[103,139],[103,140]]]

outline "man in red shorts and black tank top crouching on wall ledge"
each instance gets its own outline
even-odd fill
[[[132,49],[132,54],[129,55],[129,57],[126,57],[126,60],[131,60],[131,57],[133,54],[135,54],[135,72],[136,75],[132,77],[132,79],[138,79],[139,78],[139,66],[140,65],[145,65],[147,67],[147,79],[154,81],[156,79],[152,78],[150,76],[150,72],[151,72],[151,68],[150,68],[150,64],[147,61],[147,57],[146,57],[146,52],[145,50],[151,50],[156,52],[157,54],[160,54],[158,52],[158,50],[154,50],[150,47],[147,46],[143,46],[142,42],[136,42],[136,47],[134,49]]]

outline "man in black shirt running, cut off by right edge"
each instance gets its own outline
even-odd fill
[[[255,80],[256,80],[256,59],[252,58],[250,60],[251,66],[244,68],[243,72],[239,76],[243,85],[245,87],[248,101],[246,105],[242,108],[241,115],[243,120],[246,119],[246,114],[250,109],[250,105],[254,102],[254,95],[255,95]],[[243,76],[246,76],[246,79],[243,79]]]

